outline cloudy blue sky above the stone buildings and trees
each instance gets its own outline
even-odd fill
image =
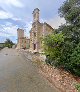
[[[58,9],[65,0],[0,0],[0,43],[9,38],[17,43],[17,29],[24,29],[25,36],[33,22],[32,12],[40,10],[40,22],[47,22],[54,29],[65,23]]]

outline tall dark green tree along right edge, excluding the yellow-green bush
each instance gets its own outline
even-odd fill
[[[63,62],[64,69],[80,76],[80,0],[66,0],[59,13],[66,20],[66,25],[58,29],[65,36],[60,61]]]

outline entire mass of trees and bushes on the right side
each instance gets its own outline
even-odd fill
[[[66,0],[59,14],[66,24],[45,37],[46,62],[80,76],[80,0]]]

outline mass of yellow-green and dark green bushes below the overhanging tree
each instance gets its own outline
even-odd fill
[[[46,63],[80,76],[80,43],[74,48],[74,43],[64,40],[62,33],[45,37]]]

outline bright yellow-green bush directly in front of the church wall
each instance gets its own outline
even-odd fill
[[[63,42],[64,36],[62,33],[51,34],[44,38],[44,51],[48,56],[49,64],[56,64],[53,60],[57,62],[60,59]]]

